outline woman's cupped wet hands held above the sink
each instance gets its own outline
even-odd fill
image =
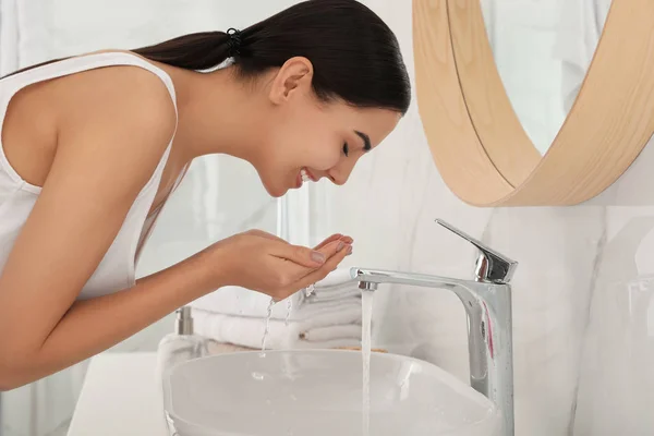
[[[352,242],[334,234],[312,250],[250,230],[210,245],[197,258],[214,289],[240,286],[283,300],[335,270]]]

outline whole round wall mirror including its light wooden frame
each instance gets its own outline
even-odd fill
[[[654,132],[650,0],[414,0],[413,33],[432,155],[469,204],[579,204]]]

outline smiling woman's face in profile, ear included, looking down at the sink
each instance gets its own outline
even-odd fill
[[[270,105],[257,135],[261,153],[253,161],[266,191],[275,197],[302,186],[302,172],[311,181],[327,178],[346,183],[356,161],[388,136],[401,118],[392,110],[319,101],[311,87],[311,63],[289,62],[267,89]]]

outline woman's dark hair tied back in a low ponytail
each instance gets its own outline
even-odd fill
[[[341,98],[356,107],[402,114],[411,102],[409,75],[396,36],[356,0],[304,1],[234,36],[240,38],[237,53],[234,40],[230,44],[225,32],[185,35],[132,51],[197,71],[214,69],[233,55],[243,77],[254,77],[301,56],[313,63],[313,89],[323,100]]]

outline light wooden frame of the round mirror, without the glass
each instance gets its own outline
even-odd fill
[[[544,156],[511,107],[480,0],[413,0],[413,51],[432,156],[468,204],[585,202],[613,184],[654,133],[653,0],[613,1],[577,100]]]

